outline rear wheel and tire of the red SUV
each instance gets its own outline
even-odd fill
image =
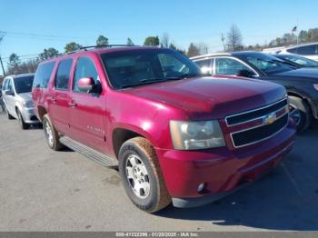
[[[65,147],[64,144],[60,143],[60,136],[55,130],[54,125],[51,123],[48,114],[45,114],[43,117],[43,128],[45,132],[46,143],[52,150],[59,151]]]

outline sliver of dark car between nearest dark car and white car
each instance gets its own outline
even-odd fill
[[[318,61],[314,61],[312,59],[305,58],[300,55],[293,55],[293,54],[277,54],[273,55],[276,58],[279,58],[283,60],[287,64],[291,64],[292,66],[295,67],[300,67],[300,68],[318,68]]]

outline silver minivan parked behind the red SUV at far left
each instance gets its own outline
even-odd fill
[[[32,84],[35,74],[19,74],[5,77],[2,96],[8,119],[18,119],[22,129],[39,124],[33,108]]]

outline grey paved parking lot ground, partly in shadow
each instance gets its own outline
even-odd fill
[[[318,124],[270,174],[222,201],[143,213],[119,174],[0,114],[1,231],[318,231]]]

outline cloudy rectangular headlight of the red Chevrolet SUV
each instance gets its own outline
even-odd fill
[[[170,121],[170,133],[176,150],[200,150],[225,145],[217,121]]]

